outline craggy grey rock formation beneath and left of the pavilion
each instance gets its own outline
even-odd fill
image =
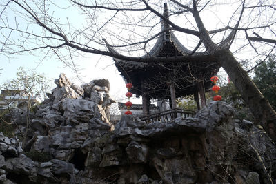
[[[114,128],[107,80],[79,87],[61,74],[55,83],[24,150],[0,133],[2,183],[275,182],[275,145],[222,101],[170,123],[122,116]]]

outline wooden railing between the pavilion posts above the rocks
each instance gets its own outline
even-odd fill
[[[155,114],[150,114],[147,116],[140,116],[139,118],[141,121],[146,121],[146,123],[152,123],[155,121],[161,121],[161,122],[170,122],[173,119],[177,117],[193,117],[195,116],[195,111],[194,110],[184,110],[181,108],[174,108],[171,110],[165,110],[162,112],[157,112]]]

